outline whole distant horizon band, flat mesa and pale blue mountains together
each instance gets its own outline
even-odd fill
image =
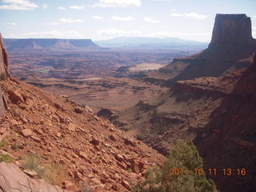
[[[6,50],[98,50],[124,49],[205,49],[206,42],[194,42],[179,38],[131,38],[120,37],[93,42],[91,39],[61,38],[5,38]]]

